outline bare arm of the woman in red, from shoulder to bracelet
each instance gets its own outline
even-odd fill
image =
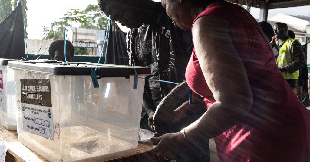
[[[251,109],[253,95],[225,23],[212,16],[199,18],[193,25],[193,41],[202,73],[216,101],[201,118],[186,127],[186,137],[197,142],[222,134],[237,124]]]

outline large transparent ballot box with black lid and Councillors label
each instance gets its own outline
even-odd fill
[[[8,68],[18,140],[34,152],[49,161],[106,161],[137,152],[150,68],[99,64],[93,75],[99,88],[93,63],[11,61]]]

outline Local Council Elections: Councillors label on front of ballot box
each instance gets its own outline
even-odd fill
[[[20,80],[23,129],[54,140],[49,79]]]

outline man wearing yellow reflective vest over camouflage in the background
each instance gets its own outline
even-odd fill
[[[292,90],[297,86],[299,69],[306,64],[305,55],[301,44],[288,35],[288,26],[285,23],[276,23],[274,25],[274,34],[278,41],[279,56],[277,64],[287,83]]]

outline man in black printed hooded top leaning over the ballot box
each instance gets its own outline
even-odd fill
[[[191,31],[175,27],[160,2],[152,0],[98,0],[98,5],[105,15],[130,28],[127,33],[127,51],[131,66],[148,66],[151,68],[151,80],[164,80],[176,83],[184,82],[185,69],[193,51]],[[140,128],[154,130],[153,115],[161,100],[175,88],[175,84],[145,81],[144,97]],[[188,86],[187,86],[188,87]],[[189,87],[184,93],[178,93],[170,103],[174,103],[176,114],[182,104],[188,107],[184,116],[175,115],[174,125],[166,132],[178,132],[192,123],[205,111],[204,104],[193,106],[188,104]],[[200,113],[202,112],[202,113]],[[170,113],[164,112],[166,118]],[[182,121],[180,121],[183,119]],[[164,128],[164,127],[163,127]],[[165,132],[163,132],[165,133]],[[207,152],[207,153],[206,153]],[[209,139],[199,144],[189,146],[177,157],[176,161],[209,161]]]

